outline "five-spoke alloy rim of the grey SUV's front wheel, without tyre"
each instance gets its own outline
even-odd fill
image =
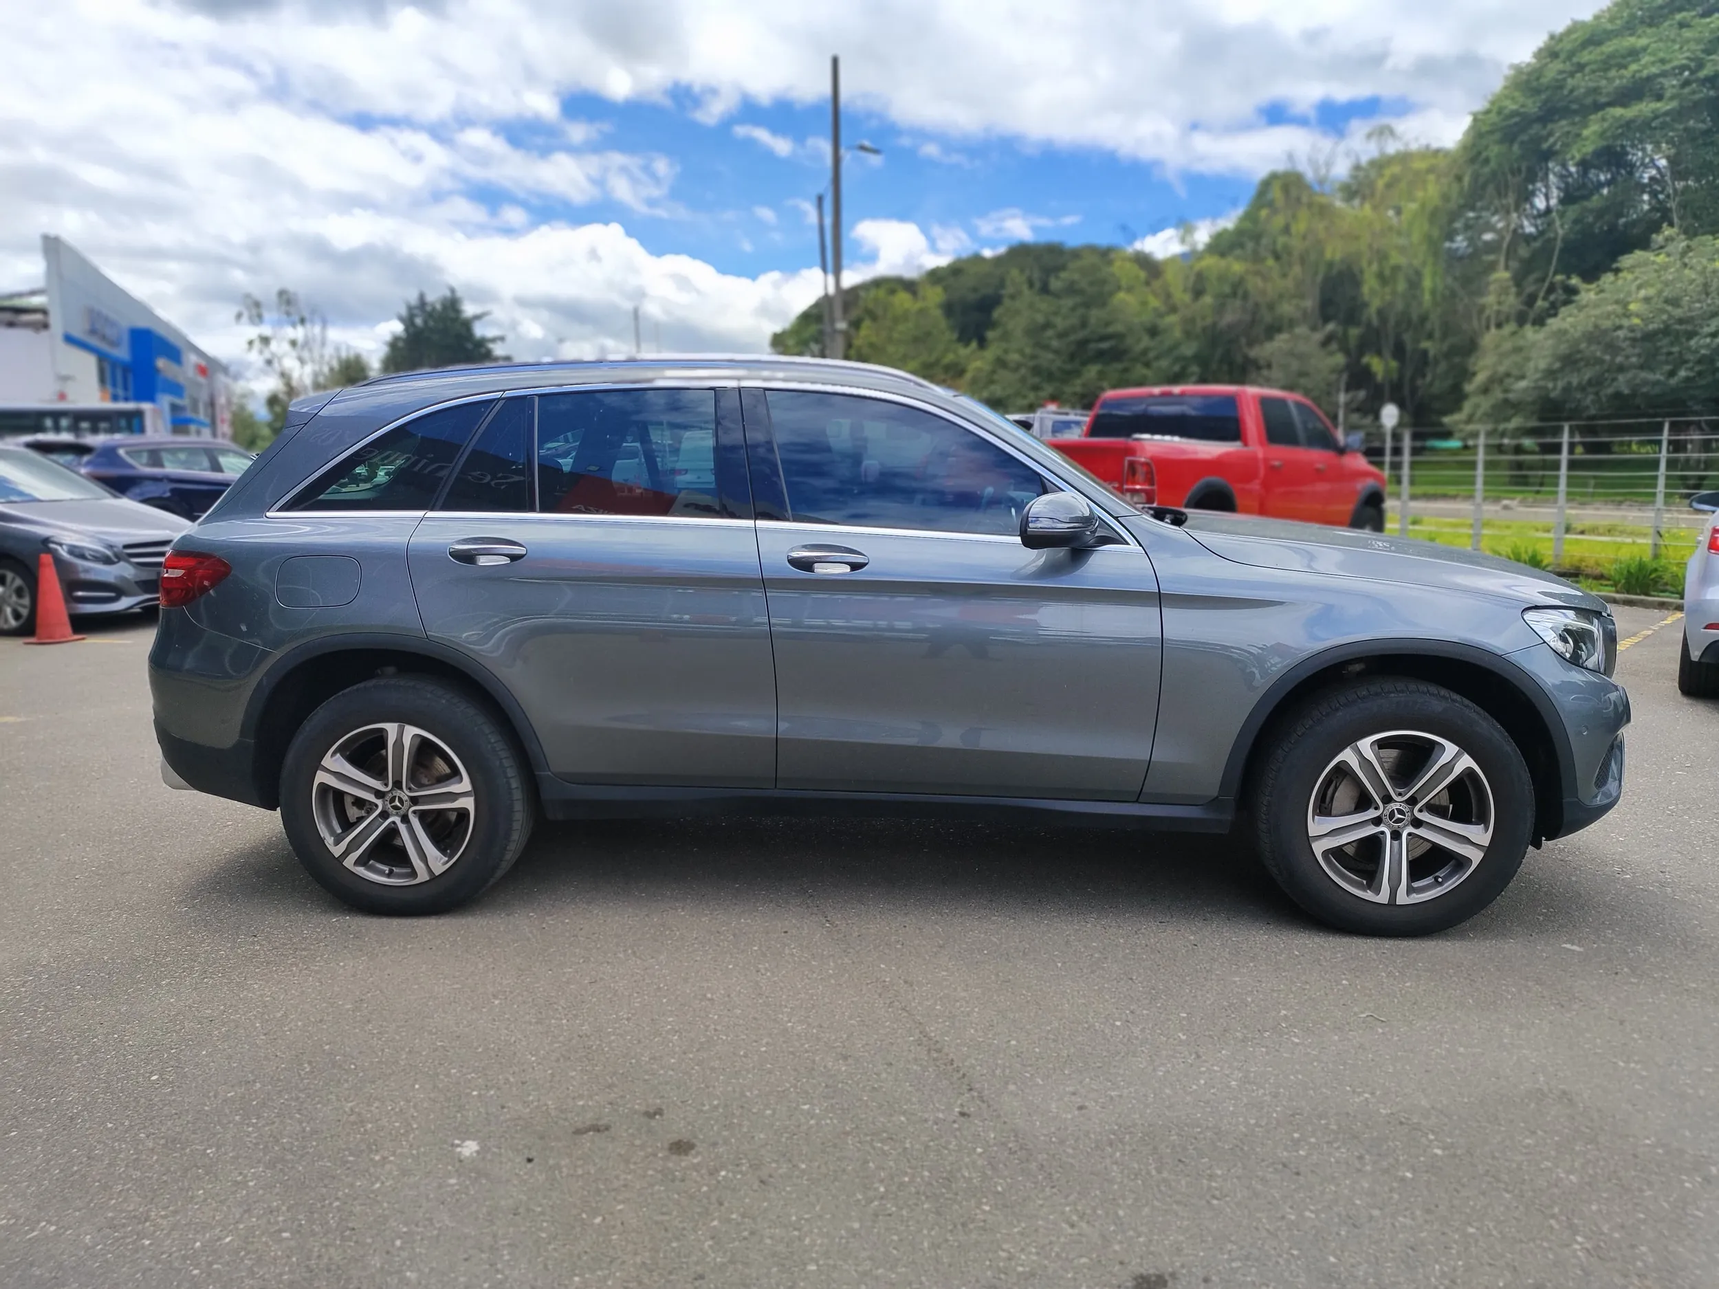
[[[1449,739],[1358,739],[1320,773],[1306,835],[1325,875],[1375,904],[1418,904],[1466,880],[1492,842],[1492,787]]]

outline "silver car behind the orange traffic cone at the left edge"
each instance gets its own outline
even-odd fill
[[[29,449],[0,445],[0,636],[36,626],[36,576],[53,557],[72,614],[153,608],[162,559],[189,524]]]

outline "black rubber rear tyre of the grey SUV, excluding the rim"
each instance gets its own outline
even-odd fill
[[[444,741],[476,791],[464,851],[445,873],[409,887],[387,887],[346,868],[323,844],[311,809],[311,784],[323,754],[352,730],[385,720],[418,725]],[[335,694],[294,734],[280,770],[280,822],[299,863],[325,890],[364,913],[445,913],[474,899],[524,846],[531,808],[523,767],[497,722],[435,681],[378,679]]]

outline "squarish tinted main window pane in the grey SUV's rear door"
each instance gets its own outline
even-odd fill
[[[538,509],[720,516],[715,390],[538,399]]]

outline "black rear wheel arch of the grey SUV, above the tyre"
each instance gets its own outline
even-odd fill
[[[450,681],[500,720],[535,773],[548,772],[543,746],[524,708],[486,669],[421,636],[342,634],[287,650],[251,691],[239,736],[249,739],[254,749],[251,775],[258,804],[265,809],[280,804],[280,767],[287,744],[311,712],[344,689],[395,674]]]

